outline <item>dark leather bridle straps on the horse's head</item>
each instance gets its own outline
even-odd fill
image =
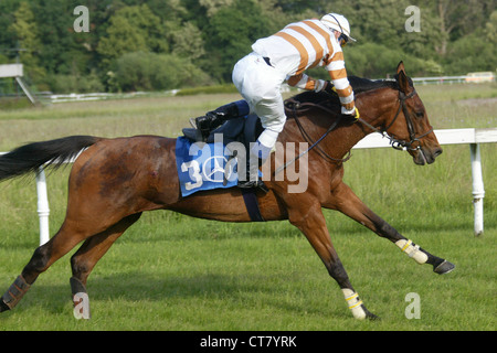
[[[405,100],[414,97],[417,95],[416,90],[413,89],[409,95],[405,95],[402,90],[399,90],[399,109],[396,110],[395,117],[392,119],[392,121],[389,124],[388,127],[383,129],[378,129],[373,127],[368,121],[363,120],[362,118],[359,118],[359,121],[363,125],[366,125],[368,128],[374,130],[376,132],[381,133],[383,137],[388,138],[390,140],[390,145],[395,150],[409,150],[409,151],[416,151],[421,149],[421,146],[419,145],[416,148],[413,148],[412,145],[416,141],[420,141],[422,138],[426,137],[427,135],[433,132],[433,128],[431,128],[429,131],[420,135],[416,137],[416,132],[414,130],[414,124],[412,122],[411,115],[408,111],[408,107],[405,105]],[[392,125],[395,122],[396,118],[399,117],[401,110],[404,114],[405,122],[408,124],[408,131],[409,131],[409,138],[411,139],[409,142],[405,140],[400,140],[395,137],[393,133],[389,133],[388,130],[392,127]]]

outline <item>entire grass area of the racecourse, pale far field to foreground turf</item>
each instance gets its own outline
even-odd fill
[[[436,129],[496,127],[493,85],[417,90]],[[67,135],[178,136],[190,117],[234,99],[148,97],[0,111],[0,151]],[[394,150],[353,152],[345,179],[356,193],[406,237],[457,266],[437,276],[351,220],[325,211],[351,281],[379,322],[351,318],[338,286],[287,222],[228,224],[151,212],[92,272],[92,320],[72,315],[68,254],[13,311],[0,314],[0,330],[494,331],[495,153],[495,145],[482,147],[485,233],[475,238],[468,146],[445,146],[437,162],[423,168]],[[67,174],[47,175],[52,233],[64,218]],[[34,182],[3,182],[0,195],[0,285],[7,289],[38,246]],[[421,298],[419,320],[404,315],[410,292]]]

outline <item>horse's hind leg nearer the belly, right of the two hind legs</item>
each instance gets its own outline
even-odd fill
[[[89,302],[86,292],[86,280],[89,272],[95,267],[96,263],[107,253],[114,242],[138,218],[141,213],[137,213],[123,218],[107,231],[86,239],[80,249],[71,257],[71,268],[73,277],[71,277],[71,290],[73,292],[74,306],[78,306],[83,300],[86,300],[85,308],[87,315],[82,318],[89,318]],[[83,308],[83,306],[82,306]]]

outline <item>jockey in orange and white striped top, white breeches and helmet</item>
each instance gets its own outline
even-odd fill
[[[356,42],[350,36],[349,22],[337,13],[328,13],[320,20],[290,23],[282,31],[257,40],[252,45],[253,52],[240,60],[233,69],[233,83],[244,99],[197,118],[197,129],[205,139],[224,121],[254,113],[261,118],[264,131],[251,149],[251,154],[264,162],[286,121],[281,94],[285,81],[303,89],[336,92],[340,98],[341,114],[356,121],[359,111],[341,50],[349,41]],[[331,81],[315,79],[304,73],[316,66],[325,66]],[[256,175],[257,172],[248,173],[247,180],[239,182],[239,186],[258,186]]]

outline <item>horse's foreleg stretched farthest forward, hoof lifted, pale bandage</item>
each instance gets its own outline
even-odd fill
[[[419,245],[414,244],[411,239],[402,236],[395,228],[372,212],[345,183],[341,183],[332,191],[332,197],[325,206],[340,211],[345,215],[370,228],[379,236],[394,243],[402,253],[405,253],[417,264],[432,265],[433,270],[436,274],[447,274],[455,267],[453,264],[430,254]]]

